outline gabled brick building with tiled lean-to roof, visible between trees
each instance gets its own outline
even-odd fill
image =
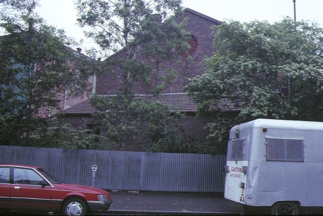
[[[183,55],[183,60],[190,56],[193,62],[187,62],[183,65],[175,65],[174,69],[177,77],[164,94],[158,97],[145,95],[145,91],[141,88],[136,89],[136,94],[145,97],[146,100],[155,100],[166,103],[168,105],[179,107],[180,111],[186,113],[184,118],[184,128],[190,142],[205,143],[208,131],[204,129],[207,122],[212,121],[210,117],[201,117],[195,119],[197,106],[183,92],[183,87],[188,83],[188,79],[196,75],[200,75],[205,71],[203,59],[205,56],[212,56],[215,51],[212,41],[214,35],[211,26],[220,25],[221,22],[211,17],[191,9],[184,9],[184,17],[188,19],[186,30],[191,33],[188,41],[191,49],[187,54]],[[109,96],[115,94],[115,81],[110,79],[106,74],[102,74],[96,78],[95,92],[98,95]],[[89,100],[85,100],[64,112],[64,121],[70,123],[73,127],[91,128],[91,114],[95,109],[91,107]],[[148,144],[132,144],[125,147],[126,151],[145,151]],[[219,146],[218,153],[225,153],[226,146]]]

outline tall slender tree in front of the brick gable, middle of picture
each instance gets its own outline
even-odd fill
[[[153,123],[147,116],[160,108],[135,98],[138,83],[141,90],[145,87],[141,94],[163,92],[176,76],[172,63],[189,48],[186,40],[190,33],[184,30],[185,20],[178,19],[180,3],[180,0],[77,2],[79,25],[90,27],[86,36],[92,37],[102,51],[114,54],[100,63],[99,73],[119,83],[116,96],[94,98],[92,104],[101,111],[95,121],[100,122],[107,137],[118,143],[121,150],[126,142],[138,137],[139,125]]]

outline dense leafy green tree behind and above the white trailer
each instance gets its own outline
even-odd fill
[[[255,118],[323,121],[323,29],[317,24],[231,21],[214,34],[216,53],[186,87],[200,114],[218,118],[210,137],[224,142],[232,125]]]

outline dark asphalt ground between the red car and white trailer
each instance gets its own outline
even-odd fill
[[[219,193],[110,192],[113,204],[95,215],[239,215],[242,205]],[[93,213],[92,213],[93,214]],[[48,215],[24,210],[2,210],[0,215]],[[59,215],[54,213],[53,215]]]

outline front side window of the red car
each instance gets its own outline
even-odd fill
[[[14,184],[41,185],[43,181],[32,169],[14,168]]]

